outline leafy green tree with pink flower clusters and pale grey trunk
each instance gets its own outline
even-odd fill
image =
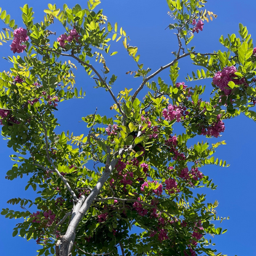
[[[192,191],[202,185],[215,188],[199,169],[206,164],[226,166],[212,156],[224,142],[189,147],[188,140],[196,135],[218,137],[225,129],[223,120],[240,113],[255,118],[249,110],[255,103],[255,52],[242,25],[241,39],[235,35],[221,38],[228,52],[206,54],[188,48],[203,23],[215,16],[204,11],[205,2],[168,2],[170,15],[176,18],[168,28],[176,31],[178,48],[172,62],[152,73],[143,69],[138,49],[129,45],[125,31],[106,23],[102,10],[94,12],[99,1],[90,1],[87,10],[76,5],[60,11],[49,4],[42,23],[33,23],[33,11],[25,5],[26,28],[18,28],[1,12],[9,25],[3,39],[13,39],[15,54],[9,57],[14,68],[1,73],[2,134],[19,153],[12,156],[18,163],[7,178],[28,174],[26,188],[41,190],[35,201],[9,201],[24,207],[23,212],[4,209],[2,214],[25,218],[14,235],[37,239],[44,245],[39,255],[49,255],[49,251],[117,255],[117,247],[122,255],[214,255],[214,250],[206,248],[210,241],[204,234],[222,233],[211,222],[218,218],[217,203],[206,206],[205,195],[194,196]],[[49,30],[54,20],[63,24],[61,36],[54,37]],[[108,69],[105,55],[110,52],[109,42],[119,39],[138,66],[129,73],[141,83],[134,94],[122,89],[115,96],[111,87],[117,78]],[[23,57],[16,54],[21,52]],[[209,102],[199,99],[204,87],[189,88],[177,80],[178,60],[189,57],[204,69],[188,76],[188,81],[213,78],[215,95]],[[102,72],[90,58],[101,63]],[[72,68],[77,63],[92,76],[96,87],[110,93],[116,116],[108,118],[95,111],[82,118],[89,128],[86,137],[69,132],[57,135],[58,102],[83,95],[74,87]],[[167,68],[172,85],[161,78],[154,82]],[[142,92],[146,94],[143,100],[138,98]],[[182,134],[178,134],[178,122],[185,128]],[[30,212],[33,204],[38,211]],[[129,234],[134,225],[145,231]]]

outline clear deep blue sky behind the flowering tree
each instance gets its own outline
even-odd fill
[[[75,3],[86,8],[86,1],[65,1],[69,7]],[[43,9],[47,8],[48,1],[24,1],[14,0],[1,1],[0,7],[2,10],[7,10],[11,18],[15,18],[18,26],[23,26],[21,20],[21,12],[19,7],[28,3],[33,7],[35,12],[35,20],[39,22],[44,13]],[[63,1],[55,1],[57,7],[62,8]],[[52,2],[54,4],[54,2]],[[108,17],[108,20],[114,24],[118,22],[119,27],[126,31],[131,41],[131,46],[138,47],[140,60],[145,67],[152,68],[152,71],[157,70],[159,66],[166,65],[173,59],[172,51],[177,49],[177,39],[170,30],[164,30],[172,19],[167,15],[168,7],[166,1],[156,0],[103,0],[100,6]],[[191,46],[195,45],[196,50],[200,52],[212,52],[213,50],[222,49],[218,39],[223,34],[225,37],[228,33],[238,34],[238,24],[242,23],[247,26],[252,38],[256,38],[255,32],[255,12],[256,3],[253,0],[214,0],[209,1],[206,5],[207,10],[214,12],[218,17],[213,22],[206,23],[204,30],[195,34]],[[0,28],[4,28],[4,23]],[[54,24],[52,30],[57,31],[57,35],[62,33],[61,27]],[[254,40],[256,41],[256,39]],[[12,56],[9,50],[10,42],[4,46],[0,46],[0,55],[7,57]],[[256,47],[256,44],[254,45]],[[111,73],[118,76],[118,81],[114,85],[114,92],[117,94],[119,90],[127,88],[136,88],[140,84],[140,80],[132,79],[132,76],[125,74],[127,71],[135,70],[136,65],[130,58],[122,42],[117,44],[112,43],[111,50],[118,51],[117,55],[111,58],[106,58],[108,67]],[[0,71],[7,70],[9,63],[1,58]],[[196,70],[196,67],[190,64],[190,60],[182,60],[180,62],[180,77],[179,82],[185,81],[184,76],[191,71]],[[86,90],[86,97],[83,100],[70,100],[59,104],[57,113],[58,121],[62,130],[72,130],[74,134],[84,134],[86,128],[81,120],[82,116],[94,113],[97,106],[99,114],[114,113],[110,111],[110,106],[113,105],[111,97],[106,94],[103,89],[93,89],[93,81],[87,79],[87,75],[82,71],[76,73],[76,86]],[[167,83],[170,83],[168,71],[161,74],[161,78]],[[210,92],[210,80],[200,81],[198,84],[206,84],[207,92]],[[143,94],[140,95],[142,97]],[[216,243],[215,249],[218,252],[227,254],[228,256],[246,256],[256,255],[255,248],[255,143],[256,143],[256,124],[245,116],[225,121],[226,130],[222,138],[208,139],[209,143],[214,143],[220,140],[225,140],[226,145],[220,146],[216,156],[225,159],[230,164],[228,168],[216,166],[207,166],[202,169],[204,174],[209,175],[214,179],[215,185],[218,185],[217,190],[198,190],[196,193],[206,193],[207,201],[214,202],[216,199],[219,202],[217,208],[218,215],[222,217],[230,217],[221,224],[228,232],[222,236],[214,238]],[[198,140],[202,140],[198,137]],[[7,148],[6,142],[0,140],[0,161],[1,161],[1,198],[0,208],[12,208],[7,205],[6,201],[10,198],[24,197],[34,198],[31,190],[25,191],[25,180],[17,179],[13,181],[6,180],[7,170],[10,169],[13,162],[9,159],[9,154],[12,151]],[[14,209],[15,208],[13,207]],[[9,220],[0,215],[0,244],[1,255],[16,256],[16,255],[36,255],[35,241],[26,242],[25,239],[15,237],[12,238],[12,228],[17,220]],[[216,223],[218,225],[218,223]]]

